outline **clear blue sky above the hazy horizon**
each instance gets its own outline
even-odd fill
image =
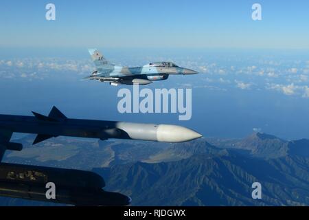
[[[56,21],[45,5],[56,5]],[[251,5],[262,5],[252,21]],[[1,1],[0,47],[309,49],[308,1]]]

